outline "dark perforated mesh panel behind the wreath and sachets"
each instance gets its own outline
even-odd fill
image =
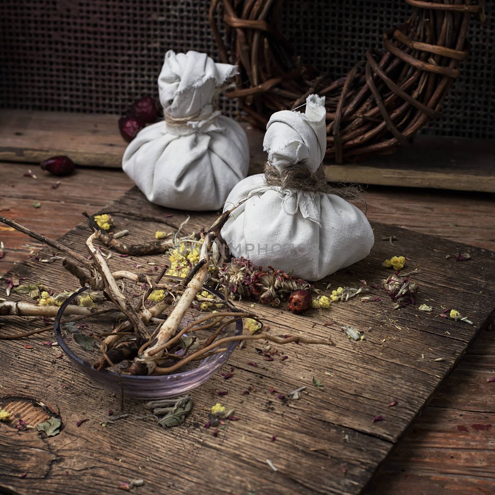
[[[333,3],[333,4],[332,4]],[[120,113],[156,95],[167,49],[218,58],[208,25],[209,0],[2,0],[0,105],[7,108]],[[402,0],[286,0],[283,32],[302,59],[335,77],[381,46],[403,22]],[[470,58],[426,132],[495,138],[494,23],[472,19]],[[235,102],[223,102],[228,113]]]

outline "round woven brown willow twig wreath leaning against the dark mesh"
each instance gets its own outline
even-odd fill
[[[407,145],[439,109],[459,61],[469,54],[466,33],[471,14],[484,19],[483,0],[405,0],[412,16],[384,35],[384,49],[333,83],[301,65],[279,32],[283,0],[212,0],[209,21],[225,63],[239,65],[239,98],[246,119],[266,125],[278,110],[294,109],[311,93],[325,96],[326,157],[338,163]],[[223,3],[227,48],[218,29]],[[231,59],[229,59],[229,53]]]

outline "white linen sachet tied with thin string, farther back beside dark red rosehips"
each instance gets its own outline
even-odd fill
[[[215,109],[219,92],[236,70],[197,51],[165,54],[158,78],[165,119],[140,131],[122,159],[124,172],[149,201],[215,210],[246,177],[246,133]]]

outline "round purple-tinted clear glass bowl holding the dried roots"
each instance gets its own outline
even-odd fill
[[[220,293],[210,289],[209,287],[204,286],[203,289],[219,299],[224,299]],[[63,352],[65,352],[70,361],[84,376],[96,383],[99,387],[120,395],[121,386],[118,374],[114,371],[108,370],[97,371],[93,367],[92,363],[75,354],[75,352],[65,342],[60,330],[60,318],[62,317],[65,307],[70,304],[75,297],[79,296],[86,290],[88,290],[88,287],[83,287],[68,297],[60,306],[53,323],[55,338]],[[228,309],[231,311],[238,311],[236,307],[230,303],[230,301],[228,302]],[[183,320],[184,325],[187,325],[188,323],[189,321]],[[228,326],[225,329],[225,332],[228,332],[230,335],[242,334],[242,319],[235,322],[235,324]],[[227,362],[237,345],[238,342],[229,343],[225,346],[227,347],[225,352],[208,356],[199,361],[197,368],[184,371],[182,373],[156,376],[121,375],[124,396],[139,399],[158,399],[184,394],[192,389],[195,389],[196,387],[199,387],[199,385],[211,378],[211,376],[213,376],[220,369],[220,367]]]

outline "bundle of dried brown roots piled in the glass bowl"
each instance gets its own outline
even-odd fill
[[[212,244],[235,207],[220,215],[205,233],[199,252],[199,261],[184,278],[169,275],[167,266],[155,273],[134,273],[127,270],[112,272],[105,257],[95,246],[95,240],[100,237],[100,231],[96,228],[86,241],[86,247],[91,255],[90,259],[87,259],[57,241],[38,234],[11,219],[0,215],[0,221],[54,247],[71,258],[64,259],[62,266],[74,275],[83,287],[101,291],[107,305],[111,303],[111,308],[99,310],[96,307],[84,311],[84,314],[79,313],[79,316],[72,320],[65,320],[65,323],[101,313],[113,312],[114,317],[114,313],[120,315],[118,325],[111,332],[93,335],[99,342],[102,354],[94,364],[95,368],[100,371],[111,367],[119,375],[123,373],[167,374],[179,370],[188,363],[224,352],[232,342],[245,340],[266,339],[276,344],[300,342],[333,345],[329,340],[311,340],[299,336],[279,339],[262,332],[255,335],[231,335],[229,328],[235,327],[235,324],[243,318],[257,320],[261,323],[261,327],[262,322],[251,312],[235,310],[227,299],[228,291],[226,291],[225,299],[216,300],[211,299],[211,296],[206,297],[207,307],[217,308],[213,312],[199,314],[193,321],[185,318],[186,312],[192,307],[197,307],[198,301],[200,302],[201,298],[205,297],[203,286],[209,274]],[[169,248],[170,245],[166,247]],[[129,248],[131,251],[135,249]],[[153,244],[151,248],[158,249],[158,246]],[[145,247],[140,249],[146,251]],[[161,252],[164,250],[165,246],[162,246]],[[149,254],[149,252],[142,252],[142,254]],[[139,297],[137,304],[136,297]],[[33,306],[36,305],[33,304]],[[71,312],[71,306],[67,305],[67,308],[65,314]],[[50,309],[51,312],[53,310],[58,310],[58,308]],[[28,313],[29,311],[26,312],[24,308],[23,313],[10,312],[9,314],[26,315]],[[54,316],[54,314],[50,313],[47,316]],[[43,330],[47,329],[41,331]],[[25,334],[18,337],[23,336]],[[117,369],[116,365],[123,361],[131,362],[126,368]]]

